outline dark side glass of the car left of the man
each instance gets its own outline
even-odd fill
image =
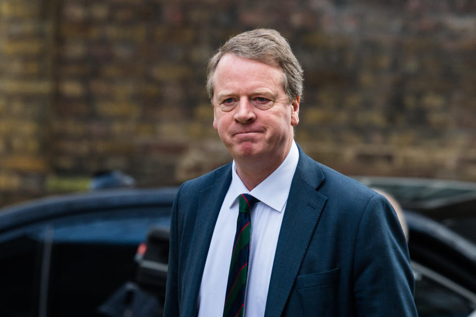
[[[2,313],[95,316],[97,307],[133,278],[137,246],[151,227],[170,225],[170,210],[78,211],[1,233],[0,267],[8,272],[0,283]]]

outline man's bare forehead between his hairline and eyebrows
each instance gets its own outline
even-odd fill
[[[258,86],[284,92],[284,74],[278,65],[227,53],[217,64],[213,84],[215,93],[232,87],[244,89]]]

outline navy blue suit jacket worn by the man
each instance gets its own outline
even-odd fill
[[[205,260],[231,179],[228,164],[179,189],[166,317],[197,314]],[[388,201],[299,148],[265,317],[417,316],[414,283],[405,237]]]

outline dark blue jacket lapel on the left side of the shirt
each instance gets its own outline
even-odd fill
[[[227,165],[228,166],[228,165]],[[231,164],[224,173],[220,173],[214,184],[199,192],[195,227],[193,230],[190,256],[187,261],[187,277],[185,280],[184,301],[186,311],[184,316],[196,316],[198,293],[202,281],[203,268],[207,259],[210,241],[222,207],[223,199],[227,194],[232,180]]]

